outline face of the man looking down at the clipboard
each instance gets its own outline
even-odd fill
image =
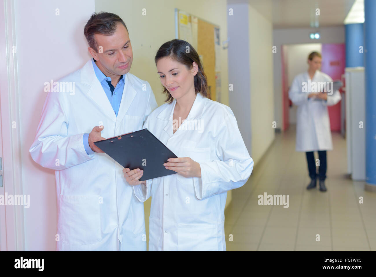
[[[110,36],[95,34],[98,52],[89,51],[106,76],[124,75],[129,72],[133,61],[132,46],[127,29],[118,23],[115,33]],[[101,48],[102,47],[102,48]]]

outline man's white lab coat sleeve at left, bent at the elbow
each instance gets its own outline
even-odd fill
[[[29,149],[33,160],[49,169],[66,169],[94,158],[94,154],[85,151],[84,132],[68,136],[67,97],[62,92],[47,94],[36,136]]]

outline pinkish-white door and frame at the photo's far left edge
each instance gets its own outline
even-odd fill
[[[0,250],[24,250],[23,207],[4,205],[22,195],[14,1],[0,1]],[[4,20],[5,19],[5,20]],[[19,125],[19,124],[18,124]]]

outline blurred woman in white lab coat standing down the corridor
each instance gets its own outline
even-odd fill
[[[338,90],[330,91],[333,88],[332,78],[320,72],[320,53],[309,54],[308,65],[308,72],[294,78],[288,95],[291,101],[298,106],[296,151],[306,152],[309,177],[311,177],[307,189],[316,187],[318,176],[320,191],[325,192],[326,151],[333,149],[327,106],[337,104],[341,100],[341,94]],[[318,152],[318,174],[316,173],[314,151]]]

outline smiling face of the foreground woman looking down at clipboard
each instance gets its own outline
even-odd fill
[[[194,76],[198,70],[196,62],[193,62],[192,68],[188,69],[184,64],[170,57],[164,57],[158,60],[157,70],[162,85],[175,99],[188,93],[196,94],[194,90]]]

